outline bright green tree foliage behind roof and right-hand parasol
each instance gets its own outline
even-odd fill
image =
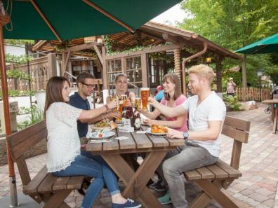
[[[192,18],[183,20],[179,27],[232,51],[278,32],[277,0],[186,0],[182,8],[191,13]],[[274,81],[278,62],[273,61],[277,55],[272,56],[247,55],[247,79],[251,85],[257,84],[258,69],[270,74]],[[225,60],[223,68],[229,69],[236,64],[240,62]],[[224,74],[231,75],[227,71]]]

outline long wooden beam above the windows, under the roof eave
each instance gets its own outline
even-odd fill
[[[144,50],[138,50],[135,52],[131,52],[131,53],[119,53],[117,55],[110,55],[105,57],[106,60],[113,60],[113,59],[118,59],[121,57],[128,57],[128,56],[133,56],[133,55],[141,55],[143,53],[157,53],[160,51],[166,51],[166,50],[174,50],[176,48],[181,48],[180,45],[176,45],[176,44],[169,44],[169,45],[164,45],[164,46],[154,46],[152,48],[147,48]]]

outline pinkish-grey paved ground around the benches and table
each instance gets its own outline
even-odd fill
[[[253,111],[229,112],[228,115],[251,120],[249,143],[244,144],[241,151],[240,171],[243,176],[232,183],[225,193],[239,202],[241,207],[278,208],[278,134],[272,134],[272,122],[269,115],[264,113],[265,105]],[[220,158],[230,161],[232,139],[223,136],[222,152]],[[46,162],[46,154],[27,159],[27,165],[34,176]],[[16,167],[16,166],[15,166]],[[17,173],[18,192],[22,191],[20,177]],[[124,188],[120,183],[120,188]],[[194,183],[187,183],[187,200],[190,202],[199,193]],[[0,198],[8,195],[8,167],[0,167]],[[159,195],[159,193],[157,193]],[[161,195],[161,193],[160,193]],[[83,196],[76,191],[67,197],[71,207],[80,207]],[[238,201],[240,200],[240,201]],[[1,206],[0,206],[1,207]],[[95,201],[94,207],[111,207],[111,197],[107,190]],[[165,208],[171,208],[171,205]],[[216,203],[209,208],[220,207]]]

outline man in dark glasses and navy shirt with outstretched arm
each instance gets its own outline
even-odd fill
[[[92,74],[88,72],[82,72],[77,76],[77,87],[78,92],[74,92],[74,95],[69,97],[69,104],[71,106],[76,107],[77,109],[82,110],[90,110],[90,104],[88,102],[87,97],[92,95],[93,88],[94,88],[94,77]],[[95,118],[88,119],[88,120],[77,120],[77,130],[79,137],[86,137],[88,132],[88,124],[89,123],[96,123],[104,118],[115,118],[119,116],[117,112],[105,112],[102,113],[100,116],[96,116]]]

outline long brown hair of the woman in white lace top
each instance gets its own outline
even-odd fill
[[[64,83],[69,81],[63,76],[53,76],[51,77],[46,85],[46,104],[44,105],[44,118],[46,118],[46,111],[53,104],[53,102],[65,102],[62,98],[62,88],[64,88]]]

